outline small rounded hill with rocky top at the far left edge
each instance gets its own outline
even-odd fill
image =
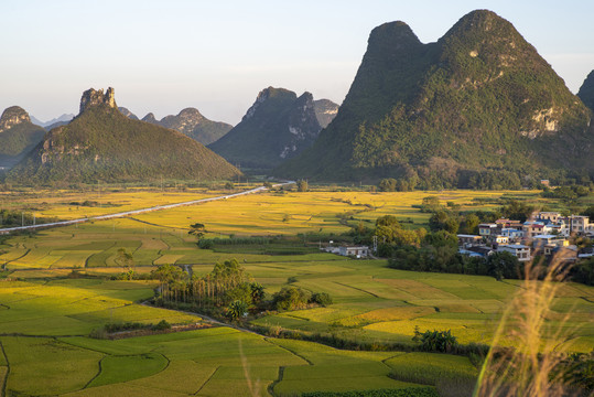
[[[11,168],[35,147],[45,130],[31,122],[29,114],[19,106],[7,108],[0,117],[0,167]]]

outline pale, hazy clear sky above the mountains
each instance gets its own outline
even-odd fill
[[[591,0],[0,0],[0,110],[77,114],[88,88],[158,119],[186,107],[236,125],[268,87],[341,104],[369,32],[407,22],[423,43],[489,9],[576,93],[594,69]]]

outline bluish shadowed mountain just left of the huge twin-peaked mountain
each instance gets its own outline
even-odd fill
[[[261,90],[241,121],[208,146],[242,168],[272,169],[313,144],[338,105],[284,88]]]

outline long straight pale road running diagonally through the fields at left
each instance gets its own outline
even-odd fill
[[[280,187],[280,186],[285,186],[285,185],[290,185],[290,184],[294,184],[294,183],[295,183],[294,181],[287,181],[287,182],[282,182],[282,183],[277,183],[277,184],[274,184],[272,186],[273,187]],[[32,230],[32,229],[40,229],[40,228],[55,227],[55,226],[68,226],[68,225],[85,223],[85,222],[89,222],[89,221],[114,219],[114,218],[125,217],[125,216],[129,216],[129,215],[143,214],[143,213],[148,213],[148,212],[152,212],[152,211],[170,210],[170,208],[181,207],[181,206],[185,206],[185,205],[194,205],[194,204],[207,203],[207,202],[212,202],[212,201],[216,201],[216,200],[234,198],[234,197],[242,196],[242,195],[246,195],[246,194],[255,194],[255,193],[266,192],[267,190],[268,190],[268,187],[260,186],[260,187],[250,189],[248,191],[227,194],[227,195],[222,195],[222,196],[217,196],[217,197],[199,198],[199,200],[193,200],[193,201],[183,202],[183,203],[175,203],[175,204],[156,205],[156,206],[153,206],[153,207],[150,207],[150,208],[133,210],[133,211],[127,211],[127,212],[117,213],[117,214],[84,217],[84,218],[72,219],[72,221],[60,221],[60,222],[53,222],[53,223],[47,223],[47,224],[41,224],[41,225],[29,225],[29,226],[0,228],[0,234],[9,234],[11,232]]]

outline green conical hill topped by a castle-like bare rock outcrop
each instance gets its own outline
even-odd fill
[[[183,133],[132,120],[116,107],[114,90],[88,90],[80,114],[50,131],[33,152],[9,172],[9,180],[145,181],[226,179],[238,170]]]

